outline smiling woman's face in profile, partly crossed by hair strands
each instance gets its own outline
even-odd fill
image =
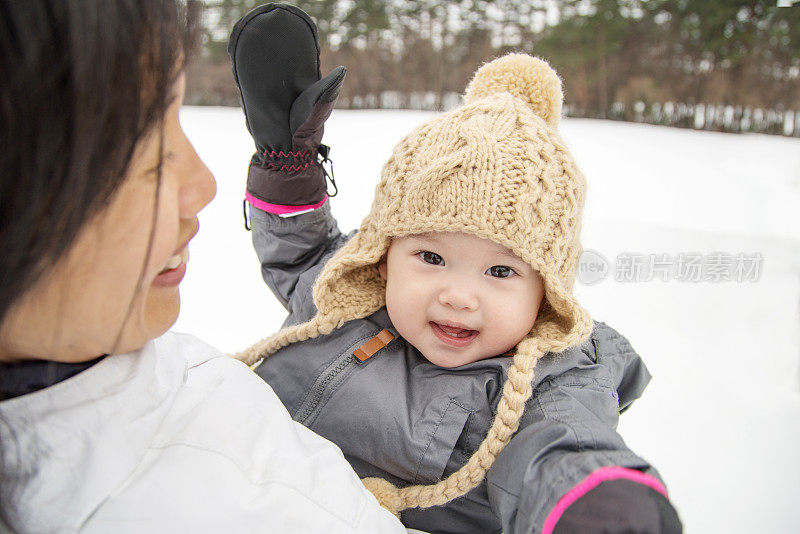
[[[138,349],[175,322],[186,247],[216,193],[178,120],[184,86],[181,76],[163,133],[153,128],[139,142],[109,206],[9,310],[0,359],[86,361]]]

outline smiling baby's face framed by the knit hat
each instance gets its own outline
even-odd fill
[[[509,249],[458,232],[395,239],[378,268],[394,327],[440,367],[512,349],[544,295],[539,273]]]

